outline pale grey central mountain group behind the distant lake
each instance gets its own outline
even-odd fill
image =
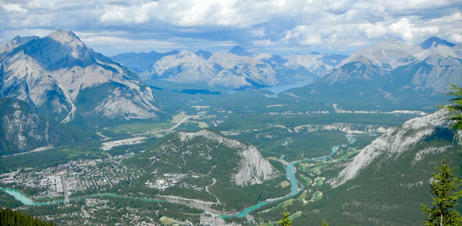
[[[199,56],[199,57],[197,57]],[[143,79],[167,79],[180,83],[203,82],[231,89],[310,83],[345,59],[345,55],[253,54],[240,46],[229,52],[182,51],[165,56],[141,73]]]

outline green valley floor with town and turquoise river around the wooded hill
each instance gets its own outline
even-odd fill
[[[171,88],[164,86],[164,89],[173,88],[178,89],[181,88],[181,86],[178,87],[178,85],[176,85]],[[188,87],[185,86],[184,88]],[[85,155],[79,154],[78,150],[88,149],[87,147],[89,144],[82,145],[81,147],[52,148],[52,152],[61,153],[64,151],[64,154],[67,155],[67,160],[65,163],[63,162],[62,165],[43,168],[44,159],[41,160],[40,158],[46,158],[46,156],[39,157],[39,155],[36,155],[36,158],[39,159],[28,162],[26,165],[23,164],[23,160],[20,158],[12,158],[14,156],[4,157],[0,159],[0,161],[2,162],[1,165],[9,165],[11,167],[7,171],[13,171],[23,167],[31,167],[32,169],[25,170],[21,174],[17,173],[13,176],[4,177],[0,182],[2,184],[16,184],[10,188],[19,190],[25,195],[29,195],[31,199],[29,202],[24,202],[25,204],[49,202],[50,205],[61,205],[59,203],[64,201],[64,196],[53,195],[58,194],[56,193],[58,184],[55,182],[56,180],[53,182],[56,183],[56,185],[49,183],[49,181],[51,180],[50,178],[61,178],[60,175],[65,175],[65,179],[61,181],[67,184],[70,203],[88,199],[104,201],[105,199],[107,200],[107,197],[122,199],[133,198],[137,202],[152,202],[158,200],[160,202],[168,201],[172,204],[175,203],[176,205],[188,206],[189,208],[207,210],[210,213],[215,213],[221,217],[233,219],[235,221],[249,214],[254,216],[255,219],[255,215],[260,216],[258,214],[260,212],[267,213],[264,211],[271,209],[271,213],[274,213],[274,211],[279,209],[274,209],[271,203],[281,203],[282,201],[295,198],[301,200],[300,202],[306,205],[308,202],[320,200],[323,193],[316,189],[321,188],[323,183],[320,181],[326,181],[328,179],[316,178],[323,177],[322,169],[325,165],[332,165],[336,163],[336,161],[351,161],[355,154],[357,154],[355,151],[340,150],[346,150],[348,148],[357,148],[360,150],[387,128],[399,125],[403,121],[421,114],[419,112],[411,112],[411,114],[400,114],[400,112],[394,114],[382,112],[353,113],[353,111],[336,110],[337,107],[335,106],[337,105],[334,105],[334,107],[328,105],[322,106],[322,108],[328,111],[326,113],[310,112],[310,114],[307,114],[304,112],[303,114],[287,114],[285,112],[291,112],[291,102],[284,102],[285,100],[281,100],[282,98],[267,98],[265,96],[266,91],[221,92],[222,94],[220,95],[225,95],[225,97],[218,97],[213,94],[182,93],[182,99],[191,104],[185,104],[188,108],[179,109],[177,114],[171,115],[170,120],[167,122],[124,123],[114,127],[106,127],[103,128],[103,130],[98,129],[102,131],[98,133],[104,135],[106,138],[99,136],[98,140],[92,142],[91,146],[94,150],[92,153],[85,153]],[[236,100],[242,99],[242,92],[245,94],[250,93],[255,98],[258,98],[258,101],[252,104],[246,99],[244,103],[238,103]],[[228,106],[223,109],[220,105],[217,105],[220,103],[215,102],[215,98],[232,98],[236,106]],[[270,112],[268,112],[266,104],[279,104],[272,108],[279,109],[278,113],[280,114],[269,114]],[[367,117],[365,121],[363,115],[375,117]],[[225,193],[227,194],[226,196],[223,196],[222,189],[216,187],[221,185],[214,182],[219,180],[219,178],[217,176],[208,176],[207,172],[195,174],[197,171],[193,170],[195,173],[190,174],[188,173],[190,171],[178,171],[177,169],[151,174],[149,171],[141,170],[142,168],[140,167],[132,167],[123,164],[124,161],[134,156],[145,154],[146,149],[152,148],[152,145],[159,142],[159,140],[165,139],[171,134],[175,134],[176,131],[196,131],[201,129],[198,122],[205,123],[208,129],[215,129],[230,138],[243,140],[256,145],[259,149],[261,148],[261,154],[270,161],[271,165],[274,165],[274,167],[281,172],[285,172],[284,174],[286,174],[286,176],[290,175],[291,186],[285,189],[282,188],[280,183],[284,181],[283,178],[276,180],[274,182],[275,185],[271,185],[275,187],[271,189],[269,189],[271,187],[270,184],[265,185],[270,186],[266,188],[257,185],[257,187],[254,188],[257,189],[256,191],[273,191],[271,194],[263,195],[263,197],[261,197],[261,192],[255,193],[253,204],[252,202],[240,201],[239,204],[230,205],[227,203],[239,200],[237,197],[230,197],[230,192],[236,192],[237,190],[230,190]],[[271,141],[268,142],[269,140]],[[140,144],[142,146],[140,146]],[[356,146],[356,144],[358,144],[358,146]],[[334,153],[337,152],[341,154],[334,155]],[[36,153],[26,153],[24,157],[31,154]],[[313,177],[311,182],[311,179],[309,179],[310,177],[303,176],[301,173],[305,172],[305,167],[302,167],[301,163],[295,164],[292,162],[284,166],[284,164],[275,161],[280,159],[281,155],[285,156],[284,159],[289,162],[317,162],[314,163],[314,165],[311,163],[310,169],[312,170],[308,170],[316,175],[316,177]],[[331,155],[334,157],[329,158]],[[82,157],[90,159],[83,162],[82,160],[77,160]],[[280,160],[286,162],[284,159]],[[169,161],[178,160],[179,159],[174,158]],[[6,161],[8,164],[3,164],[6,163]],[[140,161],[142,161],[142,159],[135,160],[135,162]],[[297,168],[295,172],[292,172],[293,165],[296,165],[295,167]],[[156,166],[155,168],[160,169],[164,167],[165,166]],[[144,171],[148,173],[146,174]],[[181,179],[175,179],[177,182],[173,187],[167,186],[164,190],[159,190],[158,188],[161,186],[152,182],[163,180],[164,183],[170,183],[172,180],[162,176],[165,173],[185,173],[187,176]],[[222,174],[223,173],[219,173],[215,175]],[[155,177],[154,175],[159,176]],[[195,175],[198,177],[193,177]],[[310,183],[308,183],[308,180],[310,180]],[[41,181],[43,181],[43,183]],[[33,186],[27,186],[27,184]],[[184,187],[183,184],[187,184],[189,188]],[[55,186],[54,190],[51,189],[53,188],[52,185]],[[194,188],[191,188],[193,186]],[[24,190],[26,187],[28,189]],[[21,193],[12,190],[6,191],[16,197],[22,197],[20,200],[24,200]],[[247,195],[251,194],[249,190],[243,190],[239,193],[241,192]],[[97,194],[113,194],[114,196],[98,196]],[[300,195],[306,198],[299,198]],[[305,199],[308,199],[308,201],[304,201]],[[217,200],[220,202],[218,203]],[[266,201],[260,201],[255,205],[257,200]],[[101,201],[96,201],[95,203]],[[88,205],[94,205],[91,203]],[[85,204],[81,208],[86,209],[85,212],[91,216],[91,212],[89,212],[91,208],[89,208],[90,206],[88,205]],[[258,212],[255,212],[257,210]],[[80,213],[84,214],[82,211],[80,211]],[[298,215],[301,215],[301,212]],[[170,215],[170,217],[173,217],[173,215]],[[173,219],[177,218],[173,217]],[[246,220],[242,221],[242,223],[245,223],[245,221]]]

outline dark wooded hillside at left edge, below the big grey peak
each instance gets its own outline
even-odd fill
[[[81,131],[74,133],[70,127],[37,115],[22,100],[0,98],[0,109],[0,155],[85,139]]]

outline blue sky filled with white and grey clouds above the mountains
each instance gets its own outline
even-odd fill
[[[0,42],[74,31],[105,55],[173,49],[351,54],[393,38],[462,43],[462,0],[0,0]]]

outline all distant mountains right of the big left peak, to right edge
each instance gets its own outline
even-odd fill
[[[443,92],[448,83],[462,84],[462,78],[455,76],[462,70],[461,46],[431,37],[415,46],[385,40],[350,56],[312,52],[281,57],[251,53],[240,46],[216,53],[172,51],[158,61],[151,59],[152,66],[141,72],[141,78],[199,82],[231,89],[313,82],[312,87],[365,85],[379,93],[436,94]],[[133,56],[112,59],[130,65],[146,55],[130,54]]]

